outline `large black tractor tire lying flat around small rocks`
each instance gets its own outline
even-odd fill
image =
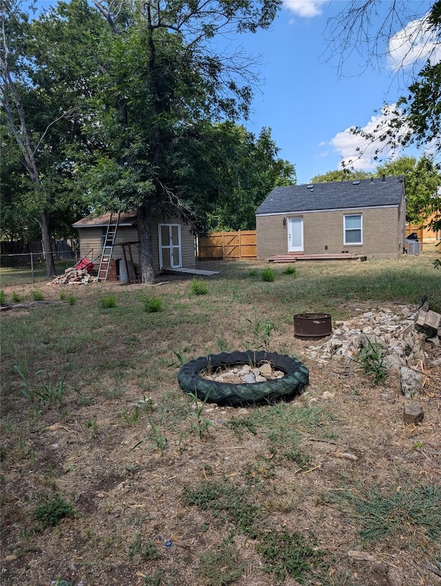
[[[200,376],[207,370],[226,370],[238,365],[259,367],[270,363],[271,367],[285,373],[282,378],[261,383],[220,383]],[[187,362],[178,372],[178,382],[183,390],[194,394],[207,403],[247,407],[262,403],[290,401],[308,384],[309,371],[297,358],[276,352],[221,352],[209,354]]]

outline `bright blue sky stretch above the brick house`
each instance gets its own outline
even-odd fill
[[[407,4],[424,14],[433,2],[412,0]],[[379,48],[384,52],[381,68],[373,64],[366,67],[364,57],[352,54],[339,72],[338,55],[332,58],[325,29],[329,17],[345,6],[347,1],[284,0],[271,30],[240,39],[246,52],[261,55],[264,80],[245,125],[256,134],[262,127],[271,128],[279,156],[296,165],[298,183],[308,183],[316,174],[341,168],[343,158],[356,156],[355,147],[363,145],[347,129],[364,128],[376,121],[382,105],[393,103],[402,94],[402,59],[406,57],[404,65],[410,66],[415,61],[415,54],[402,43],[405,32],[400,36],[397,26],[395,44],[388,47],[384,40]],[[380,2],[378,23],[390,6],[389,0]],[[429,41],[417,41],[424,56]],[[388,154],[384,152],[384,158]],[[420,156],[422,152],[408,150],[405,154]],[[354,168],[373,170],[376,164],[365,156],[355,162]]]

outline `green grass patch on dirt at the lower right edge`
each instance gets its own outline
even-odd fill
[[[356,485],[352,490],[328,494],[327,501],[357,519],[365,541],[397,535],[426,535],[433,540],[440,536],[440,485],[404,485],[392,490]]]

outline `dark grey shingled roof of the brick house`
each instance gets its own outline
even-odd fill
[[[274,188],[256,215],[400,205],[403,183],[400,175]]]

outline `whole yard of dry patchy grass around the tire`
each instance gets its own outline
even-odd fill
[[[422,292],[436,276],[423,256],[401,265],[404,276],[422,275]],[[351,363],[305,361],[309,387],[289,404],[205,405],[212,426],[202,438],[176,382],[178,357],[243,350],[254,309],[276,326],[269,350],[302,358],[309,342],[294,339],[294,312],[344,319],[356,307],[413,307],[415,290],[375,297],[379,272],[386,281],[398,263],[299,263],[296,279],[276,267],[274,283],[249,276],[258,263],[214,266],[222,272],[204,296],[189,279],[155,287],[161,312],[143,310],[141,285],[85,285],[73,306],[2,312],[2,584],[440,585],[428,569],[441,556],[440,504],[423,491],[440,487],[439,348],[427,345],[438,367],[427,370],[418,427],[402,422],[396,379],[372,385]],[[345,294],[330,296],[342,279]],[[360,279],[373,299],[360,296]],[[60,287],[40,288],[60,301]],[[32,287],[14,290],[30,299]],[[99,300],[110,294],[116,307],[105,309]],[[392,498],[403,492],[421,496],[427,514],[405,514],[407,501]],[[35,512],[54,494],[75,514],[43,527]],[[396,504],[393,514],[384,503]],[[369,540],[377,509],[395,525]],[[298,535],[306,557],[295,560]]]

